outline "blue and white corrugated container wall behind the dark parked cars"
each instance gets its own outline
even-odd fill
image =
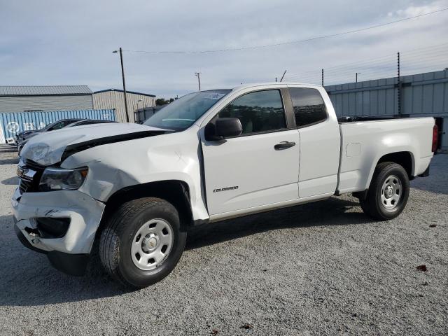
[[[38,130],[57,120],[80,118],[116,120],[113,109],[0,113],[0,143],[25,130]]]

